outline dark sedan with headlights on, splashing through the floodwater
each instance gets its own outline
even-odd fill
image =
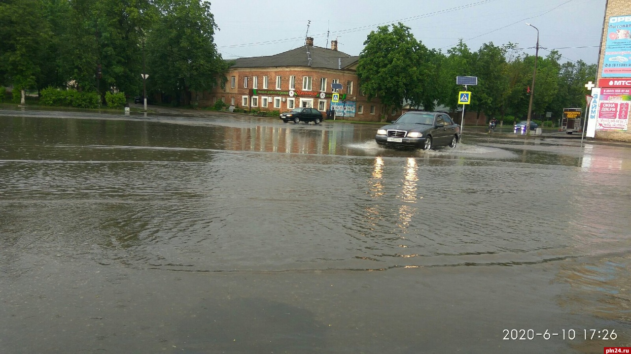
[[[460,125],[446,113],[409,111],[392,124],[377,130],[377,144],[390,147],[420,147],[429,150],[437,146],[456,147],[460,140]]]

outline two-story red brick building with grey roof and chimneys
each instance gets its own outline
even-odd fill
[[[339,52],[337,47],[337,41],[331,41],[330,49],[315,47],[313,38],[307,37],[303,47],[287,52],[239,58],[228,70],[223,87],[198,94],[199,106],[221,100],[247,110],[282,112],[313,107],[324,116],[333,106],[338,118],[379,121],[383,105],[376,98],[369,101],[358,87],[359,57]],[[333,102],[334,93],[338,93],[338,102]]]

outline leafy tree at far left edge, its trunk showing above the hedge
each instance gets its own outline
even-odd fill
[[[42,70],[41,52],[51,37],[42,0],[6,0],[0,3],[0,77],[21,90],[37,88]]]

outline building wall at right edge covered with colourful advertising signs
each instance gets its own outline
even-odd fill
[[[607,0],[598,59],[598,100],[594,139],[631,141],[631,6],[629,0]],[[596,97],[595,97],[596,98]],[[589,129],[588,129],[589,133]]]

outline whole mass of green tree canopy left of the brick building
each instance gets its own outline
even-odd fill
[[[6,0],[0,3],[0,86],[142,93],[188,103],[227,65],[203,0]],[[144,56],[143,56],[144,55]],[[145,64],[143,72],[143,62]]]

